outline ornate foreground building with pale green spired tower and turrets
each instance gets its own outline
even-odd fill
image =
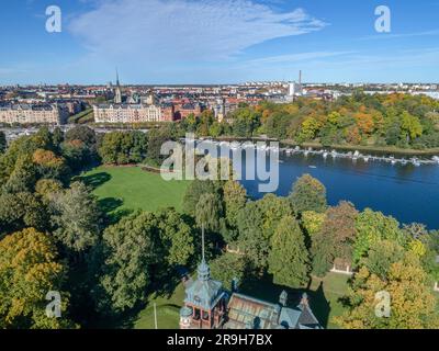
[[[306,293],[295,307],[288,307],[285,291],[278,304],[239,294],[234,281],[233,291],[211,278],[203,259],[198,278],[185,285],[184,306],[180,309],[181,329],[323,329],[309,306]]]

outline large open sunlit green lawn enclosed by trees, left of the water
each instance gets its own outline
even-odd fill
[[[94,189],[108,213],[166,207],[181,211],[188,186],[185,181],[165,181],[139,167],[99,167],[80,179]]]

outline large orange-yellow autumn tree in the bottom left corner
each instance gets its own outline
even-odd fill
[[[68,295],[63,293],[66,270],[48,236],[33,228],[0,241],[0,327],[16,329],[70,328]],[[46,294],[61,294],[61,318],[46,316]]]

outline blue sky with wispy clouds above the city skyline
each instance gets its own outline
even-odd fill
[[[48,5],[63,13],[47,33]],[[385,4],[392,32],[378,33]],[[14,0],[0,84],[439,82],[439,0]]]

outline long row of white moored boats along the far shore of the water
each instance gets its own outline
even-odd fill
[[[313,149],[313,148],[301,148],[299,146],[294,148],[281,148],[269,146],[264,143],[254,144],[254,143],[239,143],[239,141],[217,141],[217,140],[203,140],[207,143],[215,144],[219,147],[226,147],[230,150],[238,150],[238,149],[247,149],[254,148],[262,151],[273,151],[279,154],[284,154],[286,156],[293,155],[303,155],[305,157],[309,155],[317,155],[322,156],[324,159],[333,158],[333,159],[351,159],[352,161],[362,160],[363,162],[369,161],[379,161],[379,162],[386,162],[391,165],[413,165],[415,167],[420,167],[423,165],[439,165],[439,156],[434,156],[431,158],[404,158],[404,157],[395,157],[395,156],[379,156],[379,155],[363,155],[360,151],[349,151],[349,152],[341,152],[337,150],[326,150],[326,149]]]

